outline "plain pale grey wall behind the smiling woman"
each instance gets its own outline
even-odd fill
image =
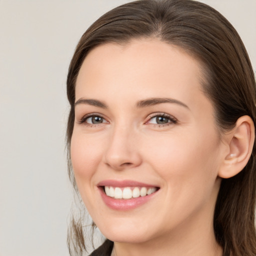
[[[97,17],[128,0],[0,0],[0,256],[67,256],[65,78]],[[256,67],[256,0],[203,0]]]

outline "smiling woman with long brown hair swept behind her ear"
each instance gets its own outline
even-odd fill
[[[69,175],[107,238],[91,255],[256,255],[255,95],[237,32],[203,3],[95,21],[67,76]]]

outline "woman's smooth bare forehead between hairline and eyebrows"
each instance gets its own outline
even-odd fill
[[[76,100],[95,95],[104,99],[109,93],[126,98],[132,94],[170,94],[185,99],[191,91],[201,90],[201,70],[195,58],[158,39],[102,44],[92,49],[82,63]]]

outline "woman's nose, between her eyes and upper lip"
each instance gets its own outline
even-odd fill
[[[104,154],[104,162],[115,170],[136,167],[141,164],[139,141],[136,132],[128,127],[112,130]]]

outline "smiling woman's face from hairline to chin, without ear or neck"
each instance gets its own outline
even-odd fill
[[[202,79],[194,58],[157,39],[100,45],[83,61],[71,161],[110,240],[213,232],[225,147]]]

